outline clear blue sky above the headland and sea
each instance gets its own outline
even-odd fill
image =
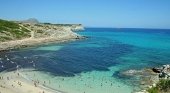
[[[0,19],[170,29],[170,0],[0,0]]]

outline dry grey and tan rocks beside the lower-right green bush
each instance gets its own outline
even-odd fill
[[[135,93],[149,93],[147,90],[157,87],[158,82],[160,82],[161,80],[165,80],[165,81],[170,80],[170,65],[154,67],[154,68],[150,69],[149,71],[143,70],[143,72],[149,73],[147,76],[146,76],[146,74],[140,74],[140,75],[142,75],[142,78],[143,78],[143,79],[141,79],[142,80],[141,82],[144,82],[143,86],[146,86],[146,87],[143,88],[140,92],[135,92]],[[133,71],[133,73],[134,73],[134,71]],[[168,86],[170,86],[170,85],[168,85]],[[159,87],[161,87],[161,86],[159,85]],[[161,91],[163,91],[163,90],[161,90]],[[166,92],[166,93],[169,93],[169,92]]]

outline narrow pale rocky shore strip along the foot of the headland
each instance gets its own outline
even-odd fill
[[[62,43],[67,41],[74,41],[84,39],[86,37],[80,35],[71,35],[66,37],[45,37],[45,38],[26,38],[22,40],[0,42],[0,52],[10,51],[14,49],[34,47],[38,45],[44,45],[49,43]]]

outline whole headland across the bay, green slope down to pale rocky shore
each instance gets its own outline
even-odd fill
[[[0,20],[0,51],[35,46],[49,42],[81,39],[74,31],[83,30],[81,24],[30,23]]]

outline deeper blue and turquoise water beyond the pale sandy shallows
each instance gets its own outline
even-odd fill
[[[170,30],[86,28],[78,33],[89,38],[1,52],[0,71],[15,70],[18,65],[57,76],[75,76],[109,71],[114,66],[120,67],[119,72],[170,63]]]

